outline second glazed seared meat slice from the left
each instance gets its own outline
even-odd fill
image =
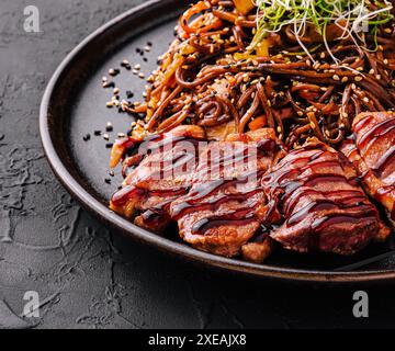
[[[273,129],[229,135],[201,154],[190,192],[171,204],[180,236],[193,247],[233,257],[259,230],[256,210],[264,202],[260,180],[276,152]],[[268,246],[248,253],[260,261]]]

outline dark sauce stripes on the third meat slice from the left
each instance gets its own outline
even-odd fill
[[[329,224],[341,223],[346,217],[376,216],[375,207],[366,201],[361,190],[358,188],[342,190],[336,186],[336,183],[350,186],[357,184],[356,179],[348,179],[343,174],[342,167],[346,166],[346,160],[340,157],[340,154],[325,150],[325,146],[318,147],[317,152],[312,154],[312,149],[315,149],[315,145],[291,151],[272,173],[263,177],[262,185],[269,194],[267,205],[269,210],[266,216],[268,224],[272,220],[271,216],[279,207],[279,202],[282,204],[282,210],[279,210],[282,216],[287,218],[286,225],[289,226],[301,223],[311,213],[328,210],[332,212],[324,218],[317,219],[319,220],[318,229],[324,229]],[[314,171],[315,169],[319,171],[323,167],[334,170],[334,172]],[[340,169],[340,172],[336,173],[336,169]],[[330,191],[320,190],[319,186],[324,183],[332,183],[332,189]],[[314,200],[311,196],[314,196]],[[303,208],[294,212],[302,199],[306,204]],[[347,211],[345,212],[345,210]],[[313,223],[312,230],[315,230],[314,226]]]

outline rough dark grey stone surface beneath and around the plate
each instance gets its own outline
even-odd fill
[[[38,135],[45,84],[84,36],[139,2],[0,2],[0,328],[394,327],[388,284],[279,284],[198,268],[109,231],[55,180]],[[23,31],[27,4],[41,33]],[[369,318],[352,316],[357,290],[369,293]],[[40,318],[19,317],[26,291],[40,294]]]

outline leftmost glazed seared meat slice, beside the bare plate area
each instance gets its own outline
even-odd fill
[[[170,203],[191,185],[200,147],[206,145],[204,136],[199,126],[153,135],[140,145],[139,154],[124,161],[127,169],[137,167],[113,195],[110,207],[140,227],[162,231],[171,220]]]

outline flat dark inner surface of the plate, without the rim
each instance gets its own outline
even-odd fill
[[[75,167],[84,188],[102,203],[108,203],[111,194],[122,182],[120,169],[116,169],[115,177],[109,176],[111,148],[106,147],[106,144],[114,141],[119,132],[126,132],[133,121],[127,114],[119,113],[117,109],[105,106],[111,100],[112,88],[102,88],[102,77],[106,76],[115,83],[115,87],[121,89],[121,100],[126,99],[125,91],[129,90],[134,93],[134,101],[143,101],[142,93],[147,84],[146,80],[134,75],[133,70],[121,68],[120,63],[127,59],[132,67],[140,65],[140,72],[147,78],[157,67],[157,57],[167,50],[172,41],[177,12],[181,10],[169,9],[169,11],[155,12],[150,14],[150,21],[149,15],[146,15],[142,22],[137,21],[137,23],[133,21],[131,23],[126,19],[127,25],[123,30],[116,29],[103,33],[100,43],[90,47],[89,50],[83,50],[83,55],[74,63],[72,71],[68,72],[69,77],[66,77],[67,84],[71,84],[71,88],[65,89],[56,106],[52,106],[53,114],[61,115],[61,128],[56,127],[60,144],[64,145],[63,151],[59,151],[60,156]],[[144,50],[147,43],[153,43],[149,52]],[[137,53],[140,49],[144,55]],[[110,68],[119,68],[121,73],[113,78],[108,73]],[[72,93],[67,91],[72,91]],[[109,133],[110,140],[105,140],[102,135],[94,135],[94,131],[108,133],[105,132],[108,122],[114,126],[113,132]],[[88,134],[90,139],[84,140]],[[111,179],[111,183],[105,181],[108,179]],[[178,240],[174,230],[172,233],[169,230],[166,236]],[[395,262],[392,256],[387,254],[388,251],[387,244],[372,245],[350,258],[329,254],[306,256],[276,250],[266,264],[278,268],[320,270],[325,273],[339,270],[393,270]],[[377,256],[380,259],[372,259]],[[370,259],[369,264],[365,262],[366,259]],[[356,264],[361,261],[365,263]]]

